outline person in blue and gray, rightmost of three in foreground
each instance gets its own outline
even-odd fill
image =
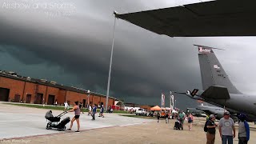
[[[250,127],[248,122],[246,122],[246,115],[240,114],[239,117],[239,127],[238,127],[238,144],[247,144],[250,139]]]

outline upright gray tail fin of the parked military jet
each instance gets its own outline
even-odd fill
[[[198,45],[194,45],[198,46]],[[231,94],[242,94],[230,82],[218,58],[216,58],[212,47],[198,46],[198,58],[202,77],[202,89],[207,90],[210,86],[226,87]]]

